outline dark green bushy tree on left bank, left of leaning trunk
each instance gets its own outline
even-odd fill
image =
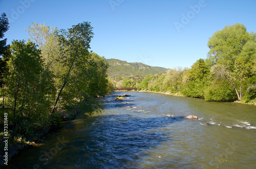
[[[4,80],[13,139],[17,134],[28,133],[36,124],[48,124],[55,89],[34,43],[13,41],[11,52],[7,62],[9,71]]]

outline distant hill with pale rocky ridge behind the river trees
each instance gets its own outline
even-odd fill
[[[145,76],[148,74],[164,73],[167,70],[167,68],[163,67],[148,66],[138,62],[128,63],[118,59],[106,59],[106,62],[109,63],[107,74],[110,78],[118,76],[129,77],[131,75]]]

